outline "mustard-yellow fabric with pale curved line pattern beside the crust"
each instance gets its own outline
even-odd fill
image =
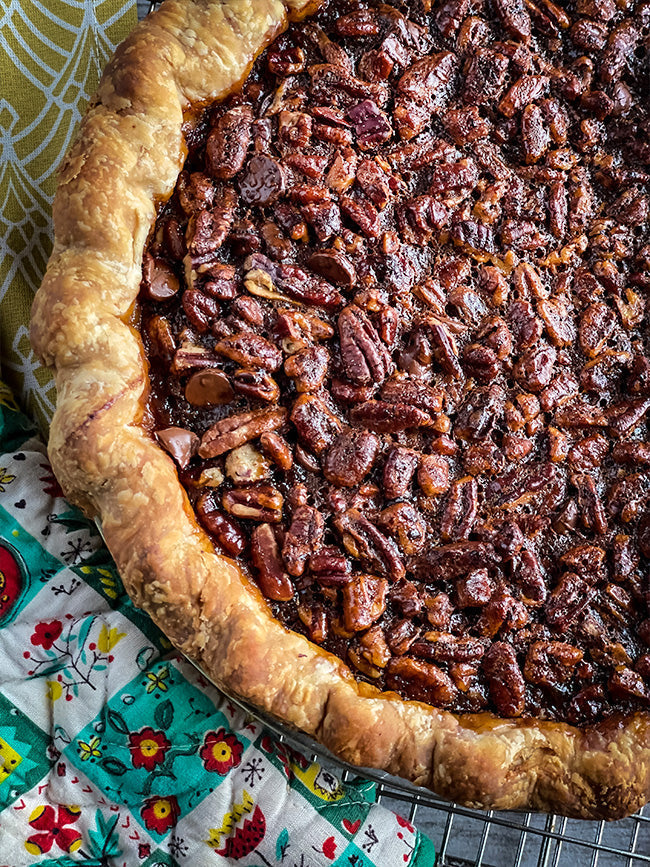
[[[0,362],[47,424],[54,386],[29,345],[29,310],[52,247],[56,169],[100,73],[136,23],[135,0],[0,3]]]

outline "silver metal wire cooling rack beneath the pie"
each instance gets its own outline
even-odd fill
[[[137,0],[138,17],[160,5]],[[268,720],[265,720],[268,724]],[[276,731],[277,723],[274,728]],[[304,750],[306,743],[294,733],[279,737]],[[311,758],[340,765],[312,752]],[[364,772],[365,774],[365,772]],[[377,781],[378,801],[406,815],[431,837],[438,857],[436,867],[641,867],[650,865],[650,805],[619,822],[585,822],[540,813],[497,813],[470,810],[436,798],[424,789],[402,784],[368,771]],[[345,769],[343,780],[355,772]],[[386,779],[389,779],[386,777]],[[408,808],[408,809],[405,809]]]

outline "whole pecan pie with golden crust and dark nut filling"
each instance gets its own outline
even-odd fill
[[[34,308],[55,469],[226,689],[467,804],[624,815],[650,3],[286,5],[166,0],[102,79]]]

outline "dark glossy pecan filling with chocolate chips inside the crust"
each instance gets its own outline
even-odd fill
[[[156,436],[277,619],[405,698],[650,703],[649,25],[331,3],[188,129]]]

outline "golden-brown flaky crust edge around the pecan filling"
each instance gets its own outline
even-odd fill
[[[62,168],[33,308],[34,347],[56,368],[54,470],[101,518],[135,603],[226,690],[352,764],[467,805],[620,817],[650,799],[650,715],[585,729],[459,716],[358,683],[215,553],[142,424],[147,364],[131,316],[156,206],[185,156],[184,118],[232,91],[288,18],[309,11],[301,0],[166,0],[106,69]]]

